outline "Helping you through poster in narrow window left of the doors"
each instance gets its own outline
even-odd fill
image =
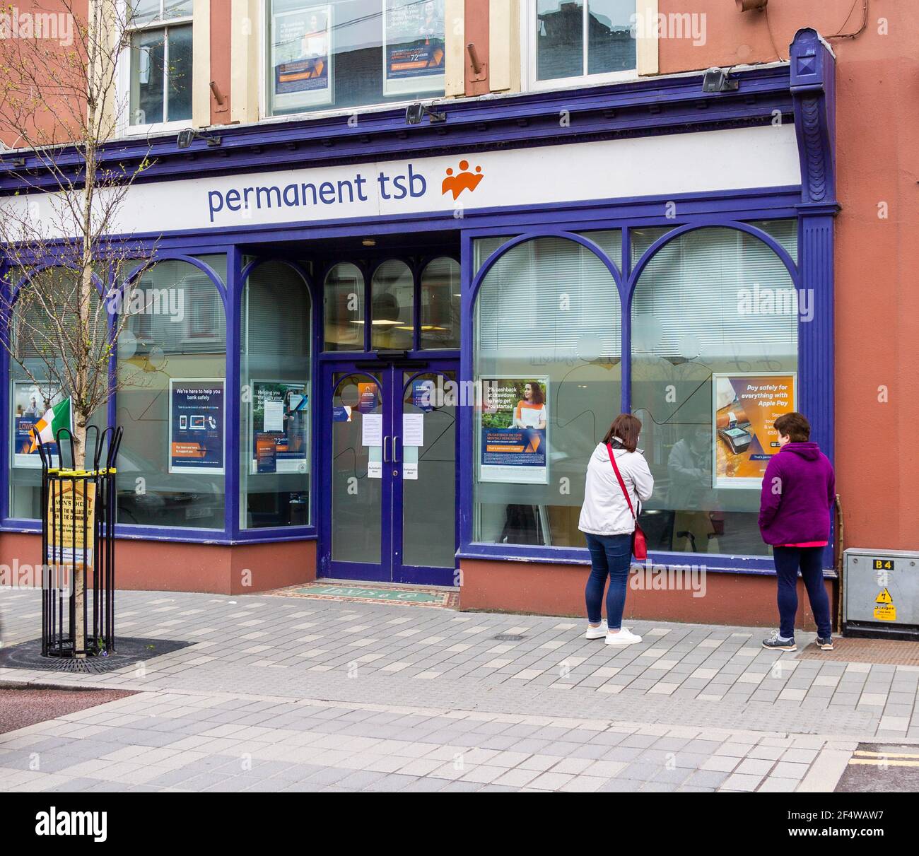
[[[253,473],[305,473],[309,396],[306,385],[253,380]]]

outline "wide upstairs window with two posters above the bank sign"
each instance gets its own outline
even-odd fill
[[[272,115],[444,94],[444,0],[268,0]]]

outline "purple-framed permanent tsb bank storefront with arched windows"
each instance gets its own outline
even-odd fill
[[[125,429],[122,584],[461,583],[471,608],[572,611],[586,460],[632,411],[652,558],[716,594],[660,617],[742,620],[772,568],[769,414],[806,412],[832,456],[836,206],[828,49],[804,30],[790,67],[737,77],[154,142],[99,415]],[[0,550],[28,556],[34,389],[4,371]]]

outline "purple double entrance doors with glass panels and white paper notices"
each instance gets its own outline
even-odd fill
[[[425,363],[323,368],[323,577],[456,584],[459,373]]]

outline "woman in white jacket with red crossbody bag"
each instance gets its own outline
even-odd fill
[[[609,459],[611,451],[616,456],[619,473],[629,490],[632,508],[638,513],[638,502],[651,499],[654,488],[654,477],[648,462],[638,449],[640,433],[641,421],[630,413],[620,413],[609,426],[603,443],[594,449],[587,464],[584,505],[578,523],[578,528],[587,539],[592,566],[584,591],[584,600],[587,602],[585,636],[588,639],[606,636],[607,645],[641,642],[641,636],[636,636],[628,627],[622,626],[635,519]],[[607,620],[602,621],[600,611],[607,577]]]

